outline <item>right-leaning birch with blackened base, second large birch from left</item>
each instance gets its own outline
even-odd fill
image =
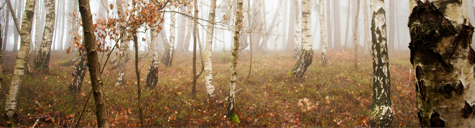
[[[45,0],[46,22],[43,32],[43,40],[35,57],[35,69],[49,70],[49,56],[51,53],[51,43],[53,41],[53,33],[55,31],[55,0]]]

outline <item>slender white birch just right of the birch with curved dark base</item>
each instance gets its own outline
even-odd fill
[[[322,67],[326,67],[328,62],[328,44],[326,37],[326,27],[325,27],[325,11],[323,9],[323,0],[319,0],[318,6],[320,7],[320,32],[322,34]]]

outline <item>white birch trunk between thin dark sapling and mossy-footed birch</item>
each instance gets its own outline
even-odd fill
[[[208,97],[214,97],[214,85],[213,85],[213,63],[211,62],[211,47],[213,46],[213,34],[214,34],[214,20],[216,16],[216,0],[209,2],[209,16],[208,16],[208,34],[206,35],[205,44],[205,85],[206,93]]]

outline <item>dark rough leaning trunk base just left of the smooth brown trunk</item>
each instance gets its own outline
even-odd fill
[[[68,87],[69,91],[72,93],[81,92],[84,76],[86,75],[87,55],[85,48],[79,51],[79,59],[79,63],[77,63],[77,65],[74,67],[74,72],[71,75],[73,77],[73,81],[71,81],[71,85]]]

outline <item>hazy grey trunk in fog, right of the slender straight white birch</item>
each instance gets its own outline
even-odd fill
[[[340,0],[333,0],[333,21],[334,21],[334,48],[341,49],[342,48],[342,29],[340,26]]]

